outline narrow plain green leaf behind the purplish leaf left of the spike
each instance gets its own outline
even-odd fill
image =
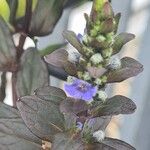
[[[45,56],[45,55],[51,54],[56,49],[64,47],[65,45],[66,45],[66,43],[49,45],[45,49],[40,50],[39,53],[41,56]]]

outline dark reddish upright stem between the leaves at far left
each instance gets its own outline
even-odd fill
[[[23,54],[23,46],[26,40],[26,37],[29,33],[29,26],[31,21],[31,15],[32,15],[32,0],[26,0],[26,13],[25,13],[25,19],[24,19],[24,28],[23,32],[19,39],[19,46],[17,47],[17,63],[20,63],[21,55]],[[17,92],[16,92],[16,82],[17,82],[17,72],[12,73],[12,94],[13,94],[13,106],[16,107],[16,101],[18,99]]]

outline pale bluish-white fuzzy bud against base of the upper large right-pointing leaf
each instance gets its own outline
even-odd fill
[[[121,60],[119,58],[114,58],[110,60],[109,67],[113,70],[121,68]]]

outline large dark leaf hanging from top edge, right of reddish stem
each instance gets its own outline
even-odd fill
[[[64,4],[64,0],[39,0],[32,15],[30,35],[44,36],[51,33],[61,17]]]

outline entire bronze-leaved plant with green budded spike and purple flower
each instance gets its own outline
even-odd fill
[[[53,31],[69,1],[0,2],[5,7],[0,11],[0,149],[134,150],[105,134],[112,116],[136,109],[125,96],[108,97],[107,86],[143,71],[133,58],[116,57],[135,37],[117,34],[121,14],[113,12],[108,0],[94,0],[90,15],[84,14],[84,34],[62,33],[78,51],[71,60],[65,43],[41,51],[23,48],[27,37],[36,45],[36,36]],[[7,72],[12,72],[13,107],[3,103]],[[63,89],[51,86],[49,75],[65,80]]]

